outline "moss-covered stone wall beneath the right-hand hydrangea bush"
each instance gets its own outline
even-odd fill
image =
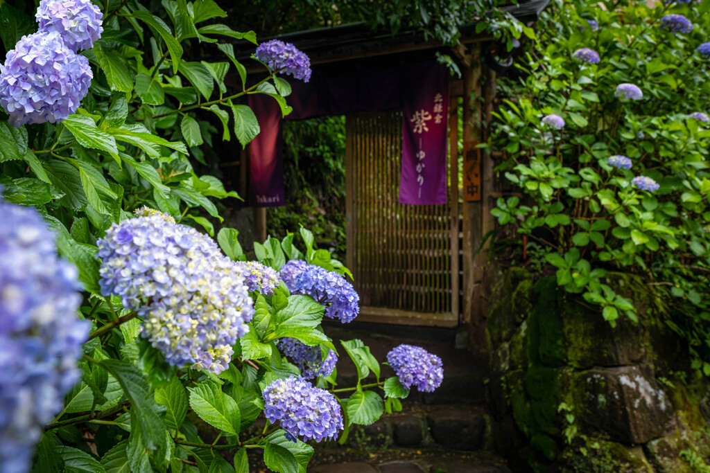
[[[607,284],[635,302],[638,323],[612,328],[554,276],[501,275],[487,323],[496,450],[519,451],[520,471],[706,471],[708,383],[658,294],[634,277]]]

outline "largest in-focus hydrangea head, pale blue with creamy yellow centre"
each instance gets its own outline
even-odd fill
[[[241,269],[194,228],[157,211],[137,213],[97,240],[102,294],[138,311],[141,335],[170,365],[219,374],[254,312]]]

